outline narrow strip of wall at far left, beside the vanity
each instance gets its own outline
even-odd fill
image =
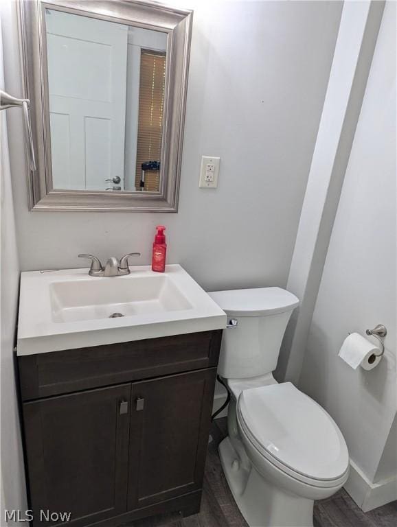
[[[0,86],[3,89],[3,49],[1,46],[0,8]],[[10,110],[8,110],[9,112]],[[11,110],[21,111],[21,110]],[[14,210],[5,112],[0,113],[0,174],[1,174],[1,301],[0,301],[0,414],[1,414],[1,465],[0,525],[3,525],[3,508],[26,509],[25,476],[19,412],[16,401],[14,375],[14,336],[19,291],[19,261],[16,250]]]

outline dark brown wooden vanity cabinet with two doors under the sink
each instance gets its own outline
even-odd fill
[[[32,526],[199,510],[221,333],[19,358]]]

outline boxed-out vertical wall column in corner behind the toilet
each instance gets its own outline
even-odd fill
[[[384,2],[345,2],[286,289],[299,298],[275,372],[296,383],[348,166]]]

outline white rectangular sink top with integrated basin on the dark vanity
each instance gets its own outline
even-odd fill
[[[111,278],[88,269],[23,272],[17,355],[225,327],[225,313],[181,266],[130,269]]]

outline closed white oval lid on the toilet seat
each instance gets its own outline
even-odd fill
[[[282,465],[315,480],[335,480],[348,469],[337,424],[291,382],[243,390],[238,405],[249,434]]]

